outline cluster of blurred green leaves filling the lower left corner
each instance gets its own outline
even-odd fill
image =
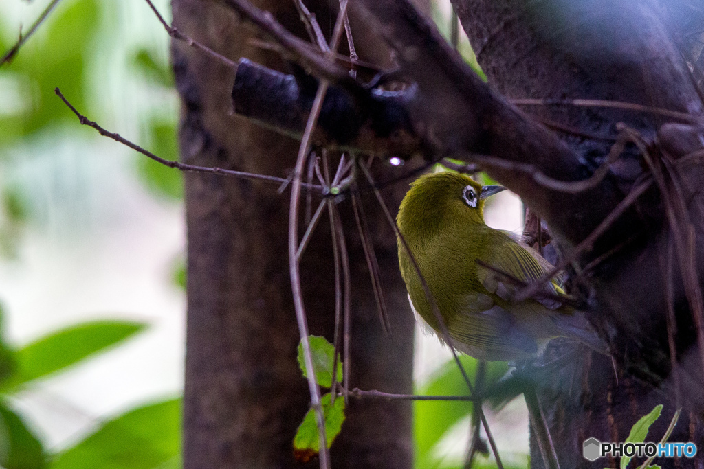
[[[3,313],[0,309],[0,323]],[[25,347],[6,343],[0,326],[0,465],[34,468],[177,467],[180,399],[144,406],[106,423],[59,454],[50,455],[22,416],[8,406],[14,394],[81,364],[144,330],[128,321],[93,321],[55,331]]]

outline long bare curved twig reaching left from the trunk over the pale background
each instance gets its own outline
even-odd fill
[[[195,165],[187,165],[182,162],[177,162],[177,161],[172,161],[172,160],[165,160],[164,158],[161,158],[157,155],[154,155],[151,153],[149,150],[145,150],[141,146],[137,145],[137,143],[132,143],[131,141],[123,138],[120,136],[120,134],[115,134],[111,131],[108,131],[101,127],[99,124],[96,122],[93,122],[92,120],[89,120],[87,117],[82,115],[81,113],[76,110],[76,108],[71,104],[68,99],[66,99],[65,96],[61,93],[61,90],[56,88],[54,89],[54,93],[61,98],[61,101],[68,106],[68,108],[78,117],[78,121],[82,125],[87,125],[88,127],[92,127],[98,131],[99,134],[102,136],[106,136],[109,139],[113,139],[116,142],[122,143],[122,145],[128,146],[132,148],[132,150],[135,150],[139,153],[142,153],[142,155],[145,155],[146,157],[151,158],[152,160],[161,163],[161,165],[168,166],[170,168],[175,168],[179,169],[180,171],[189,171],[189,172],[204,172],[204,173],[210,173],[210,174],[222,174],[225,176],[234,176],[234,177],[239,177],[242,179],[256,179],[258,181],[267,181],[267,182],[272,182],[275,184],[282,184],[286,182],[287,180],[282,178],[282,177],[276,177],[276,176],[268,176],[266,174],[255,174],[255,173],[249,173],[249,172],[242,172],[242,171],[234,171],[232,169],[222,169],[218,167],[203,167],[203,166],[195,166]],[[325,189],[323,186],[318,186],[318,184],[301,184],[303,187],[318,191],[319,193],[322,193],[323,190]]]

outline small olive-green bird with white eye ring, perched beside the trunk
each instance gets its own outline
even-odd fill
[[[398,229],[413,252],[437,304],[453,346],[482,360],[516,360],[538,354],[547,342],[568,337],[609,354],[581,311],[559,301],[557,281],[546,283],[551,298],[512,302],[515,282],[537,281],[551,264],[506,231],[484,223],[484,202],[503,191],[469,176],[426,174],[411,185],[398,210]],[[443,334],[413,262],[398,239],[398,261],[416,316]],[[494,269],[489,269],[491,266]]]

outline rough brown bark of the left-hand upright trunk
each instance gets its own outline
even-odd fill
[[[293,4],[260,1],[284,25],[303,32]],[[284,68],[276,53],[247,44],[256,30],[209,1],[174,0],[174,25],[237,60]],[[320,14],[324,29],[324,14]],[[325,29],[327,30],[327,29]],[[362,34],[360,32],[360,38]],[[364,42],[364,41],[362,41]],[[229,70],[175,41],[172,60],[182,98],[182,160],[196,165],[287,176],[298,142],[232,115]],[[296,362],[298,328],[287,274],[287,192],[261,182],[186,175],[188,237],[184,468],[289,468],[292,440],[310,397]],[[403,188],[389,193],[392,210]],[[373,226],[384,226],[365,198]],[[315,201],[317,203],[317,200]],[[398,274],[390,229],[375,231],[393,339],[382,331],[349,202],[340,204],[353,291],[353,386],[412,391],[413,316]],[[301,231],[302,232],[302,231]],[[323,219],[301,264],[310,332],[332,340],[334,276],[329,224]],[[409,468],[408,403],[351,401],[332,446],[335,468]],[[305,467],[317,467],[312,461]]]

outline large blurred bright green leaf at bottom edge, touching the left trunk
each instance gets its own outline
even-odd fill
[[[179,467],[182,399],[134,409],[58,454],[50,469]]]

